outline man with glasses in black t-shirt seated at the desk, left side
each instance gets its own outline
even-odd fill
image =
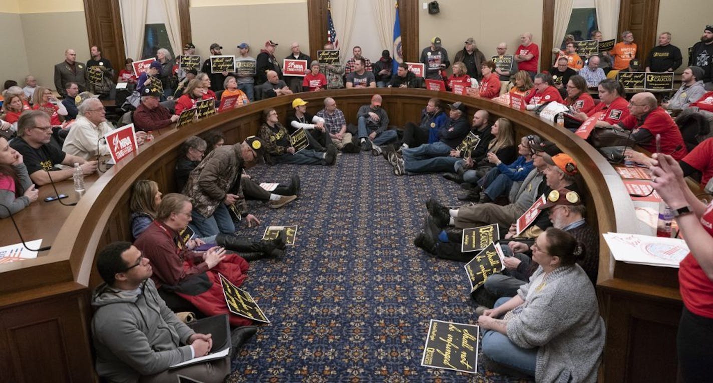
[[[39,110],[28,110],[17,122],[17,135],[10,146],[22,154],[32,182],[37,186],[70,179],[74,172],[73,164],[79,164],[84,175],[96,171],[96,161],[87,161],[82,157],[62,152],[51,145],[52,125],[49,116]],[[68,169],[56,167],[68,165]]]

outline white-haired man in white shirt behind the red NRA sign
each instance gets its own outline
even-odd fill
[[[113,130],[106,121],[106,111],[101,100],[88,98],[78,107],[79,115],[64,139],[62,149],[77,157],[91,159],[109,154],[104,135]]]

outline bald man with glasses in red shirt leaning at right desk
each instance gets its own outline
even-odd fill
[[[653,93],[633,95],[629,103],[629,113],[618,126],[632,129],[631,137],[638,145],[649,152],[669,154],[675,159],[682,159],[688,153],[681,130],[671,116],[658,106]],[[656,145],[656,135],[661,135],[659,149]]]

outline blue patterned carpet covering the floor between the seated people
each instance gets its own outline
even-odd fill
[[[262,182],[302,179],[282,209],[250,201],[257,229],[297,224],[281,260],[250,263],[242,285],[270,319],[233,360],[228,382],[520,382],[421,367],[429,320],[473,323],[463,263],[413,245],[431,196],[457,204],[438,174],[396,177],[382,157],[343,154],[334,167],[250,170]]]

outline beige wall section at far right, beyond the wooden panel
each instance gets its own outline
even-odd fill
[[[657,31],[671,32],[671,43],[681,50],[683,65],[677,72],[688,66],[688,48],[700,41],[703,28],[713,21],[712,15],[710,0],[686,0],[685,6],[679,0],[660,0]]]

